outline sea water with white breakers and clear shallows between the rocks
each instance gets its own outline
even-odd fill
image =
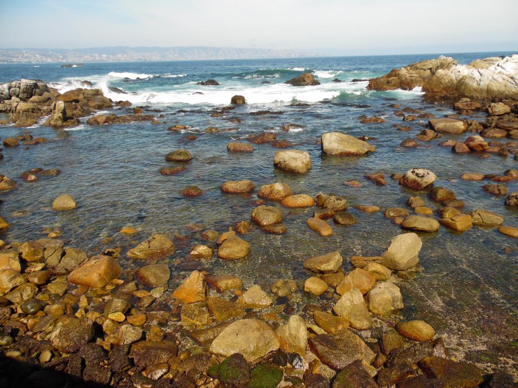
[[[469,63],[475,58],[500,54],[453,56],[461,63]],[[56,141],[3,151],[0,172],[20,182],[18,189],[0,196],[4,200],[1,215],[11,223],[2,238],[7,242],[26,241],[46,236],[47,229],[59,228],[68,245],[94,254],[113,246],[132,247],[153,232],[171,237],[184,235],[188,240],[176,240],[178,251],[171,260],[180,260],[179,265],[171,264],[170,286],[173,288],[185,276],[187,264],[184,258],[190,248],[203,243],[200,233],[187,228],[190,224],[199,223],[204,230],[213,228],[221,233],[237,221],[250,219],[255,193],[250,198],[226,195],[220,191],[223,182],[250,179],[258,189],[263,184],[281,181],[297,193],[316,196],[323,191],[346,197],[358,222],[349,228],[333,226],[333,236],[320,237],[306,226],[313,208],[294,211],[283,208],[288,232],[275,236],[256,230],[244,236],[252,244],[249,258],[235,262],[213,258],[189,265],[210,268],[215,273],[237,274],[243,278],[246,288],[258,283],[269,290],[276,279],[292,276],[303,289],[308,277],[302,266],[306,258],[339,250],[346,259],[344,269],[347,270],[348,257],[380,255],[391,238],[401,233],[401,229],[384,218],[382,212],[363,214],[356,211],[354,205],[373,204],[382,209],[386,206],[406,207],[408,197],[415,192],[402,188],[389,176],[413,167],[434,171],[438,176],[436,185],[452,189],[457,198],[464,200],[465,212],[484,208],[503,215],[505,225],[518,226],[518,213],[503,205],[504,197],[488,195],[481,189],[488,182],[459,180],[459,175],[467,171],[501,174],[516,168],[512,157],[491,154],[490,158],[483,159],[477,154],[454,155],[449,148],[438,145],[442,140],[465,139],[467,135],[444,136],[440,140],[421,143],[419,148],[402,148],[399,144],[403,139],[414,137],[423,128],[418,120],[403,123],[409,125],[411,131],[397,131],[393,125],[402,122],[393,115],[394,109],[389,105],[398,103],[401,108],[422,108],[436,116],[453,113],[450,107],[424,102],[419,91],[369,92],[364,89],[366,82],[350,82],[353,78],[379,76],[394,67],[434,56],[103,63],[77,68],[60,68],[55,64],[41,64],[38,68],[0,65],[2,82],[36,78],[53,82],[64,91],[77,87],[73,80],[90,80],[113,100],[135,102],[133,107],[114,109],[117,114],[129,113],[135,106],[140,106],[145,110],[160,110],[154,112],[156,115],[165,115],[159,125],[142,122],[97,127],[81,125],[69,130],[31,128],[34,136],[55,138]],[[313,72],[322,85],[295,88],[282,84],[304,71]],[[144,80],[136,79],[146,76]],[[124,77],[133,79],[125,80]],[[221,85],[196,85],[197,81],[209,78],[216,79]],[[334,78],[346,82],[332,83]],[[263,81],[272,84],[262,84]],[[119,87],[128,94],[109,92],[109,86]],[[195,92],[204,94],[193,95]],[[234,94],[244,95],[249,104],[238,106],[223,117],[210,117],[213,109],[227,105]],[[293,105],[296,102],[310,105]],[[180,113],[179,110],[190,112]],[[282,111],[283,114],[250,114],[258,110]],[[360,124],[358,116],[363,114],[383,116],[386,123]],[[231,123],[228,121],[231,117],[239,117],[242,122]],[[482,121],[484,117],[480,114],[474,118]],[[306,128],[283,132],[282,125],[287,123],[303,124]],[[186,140],[192,133],[167,131],[175,124],[188,125],[197,139]],[[209,126],[223,132],[197,133]],[[226,132],[228,128],[235,129]],[[296,176],[275,170],[272,160],[277,149],[269,144],[254,145],[252,154],[226,152],[229,141],[243,140],[250,133],[264,130],[275,132],[278,139],[295,143],[296,149],[308,151],[313,163],[311,171]],[[376,140],[369,142],[377,147],[377,151],[358,158],[322,155],[318,144],[321,134],[335,130],[375,137]],[[0,136],[16,136],[23,131],[2,127]],[[174,164],[166,162],[164,156],[178,148],[189,150],[194,158],[185,163],[184,172],[162,176],[160,168]],[[24,183],[18,178],[22,171],[36,167],[57,168],[61,174],[41,177],[35,183]],[[373,171],[383,171],[389,184],[380,187],[364,178],[364,174]],[[352,188],[344,184],[346,180],[358,180],[363,185]],[[181,190],[190,185],[202,188],[204,195],[184,198]],[[518,189],[517,182],[506,185],[510,192]],[[52,200],[62,193],[69,193],[77,200],[77,210],[56,213],[50,209]],[[439,207],[428,201],[425,193],[423,196],[428,206]],[[15,212],[20,211],[26,215],[17,216]],[[117,232],[124,226],[137,228],[139,234],[130,238],[119,235]],[[107,236],[113,240],[103,244]],[[518,361],[518,256],[515,250],[505,253],[504,249],[516,249],[516,241],[495,229],[477,227],[463,234],[441,227],[437,233],[423,234],[422,238],[422,272],[398,282],[406,305],[402,316],[422,318],[433,324],[459,357],[491,364],[491,369],[496,365],[515,368],[513,365]],[[122,260],[126,268],[142,264]],[[293,303],[299,309],[305,303],[315,301],[313,297],[303,295],[301,303]]]

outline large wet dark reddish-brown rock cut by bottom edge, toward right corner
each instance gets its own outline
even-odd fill
[[[429,379],[440,380],[444,387],[476,387],[484,381],[482,370],[474,364],[428,356],[419,366]]]

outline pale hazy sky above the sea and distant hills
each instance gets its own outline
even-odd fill
[[[0,0],[0,47],[518,51],[518,0]]]

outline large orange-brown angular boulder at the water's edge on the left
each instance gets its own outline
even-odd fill
[[[70,272],[67,280],[70,283],[100,288],[122,273],[122,268],[111,256],[94,256],[86,263]]]

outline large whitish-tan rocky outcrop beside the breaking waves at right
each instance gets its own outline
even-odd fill
[[[518,55],[478,59],[459,65],[451,57],[440,56],[393,69],[369,80],[368,89],[387,91],[422,87],[425,98],[452,100],[471,98],[483,101],[516,99],[518,96]]]

